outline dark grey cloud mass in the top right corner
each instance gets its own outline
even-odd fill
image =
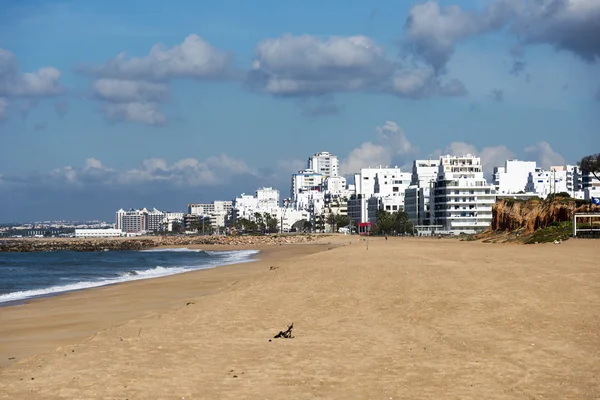
[[[593,62],[600,59],[597,0],[493,0],[480,11],[428,0],[410,10],[403,50],[443,73],[456,44],[510,27],[523,44],[548,44]],[[513,66],[518,74],[525,63]]]

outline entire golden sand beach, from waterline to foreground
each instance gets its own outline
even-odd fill
[[[600,398],[598,248],[338,236],[1,308],[0,398]]]

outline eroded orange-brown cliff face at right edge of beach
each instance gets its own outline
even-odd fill
[[[600,207],[583,203],[581,200],[557,199],[555,201],[514,201],[499,200],[492,208],[493,231],[515,231],[532,233],[546,228],[553,222],[572,221],[573,214],[600,212]]]

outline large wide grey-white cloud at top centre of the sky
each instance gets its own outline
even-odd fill
[[[366,36],[283,35],[255,50],[248,83],[279,96],[318,96],[347,91],[378,91],[401,97],[464,95],[458,81],[444,85],[430,68],[399,68]]]

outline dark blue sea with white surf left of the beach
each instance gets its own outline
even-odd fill
[[[0,305],[253,260],[257,250],[0,253]]]

